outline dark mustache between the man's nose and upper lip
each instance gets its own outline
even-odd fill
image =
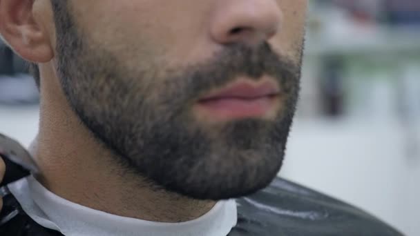
[[[263,75],[272,77],[285,94],[298,93],[300,63],[276,54],[263,43],[251,48],[243,44],[227,46],[205,63],[188,66],[178,71],[180,75],[166,81],[168,98],[188,101],[196,99],[209,90],[222,88],[238,79],[249,77],[258,81]],[[182,83],[180,83],[182,81]]]

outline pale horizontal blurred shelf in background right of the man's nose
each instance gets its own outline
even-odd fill
[[[346,26],[343,26],[346,27]],[[406,53],[420,55],[419,27],[370,27],[307,34],[305,55],[358,55],[375,57]]]

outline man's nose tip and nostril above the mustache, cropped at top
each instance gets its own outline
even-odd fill
[[[276,0],[219,1],[211,37],[220,44],[256,45],[271,39],[280,30],[281,10]]]

